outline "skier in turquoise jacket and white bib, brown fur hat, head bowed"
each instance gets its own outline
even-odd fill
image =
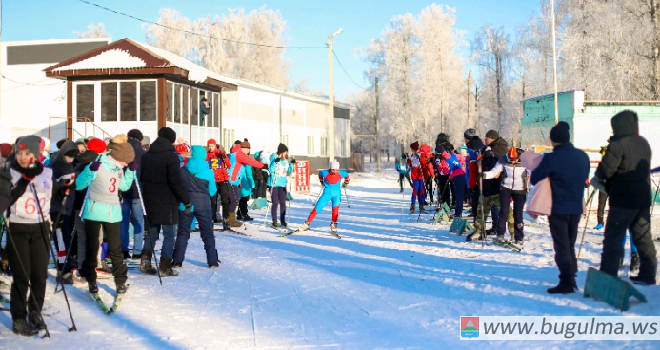
[[[89,164],[76,178],[76,188],[88,189],[81,215],[85,224],[87,249],[80,275],[87,279],[90,293],[98,293],[99,290],[96,285],[96,267],[101,228],[108,241],[117,293],[126,292],[128,267],[121,250],[120,193],[131,188],[137,169],[135,152],[126,143],[126,139],[125,135],[113,138],[112,150]]]

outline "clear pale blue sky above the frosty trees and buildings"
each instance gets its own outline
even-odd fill
[[[191,20],[207,15],[224,14],[228,8],[246,11],[266,6],[279,10],[288,22],[290,46],[325,46],[328,35],[338,28],[344,32],[333,40],[334,50],[348,74],[361,86],[368,85],[363,72],[368,65],[355,57],[356,49],[367,47],[379,37],[390,19],[398,14],[418,14],[433,2],[334,0],[334,1],[253,1],[236,2],[196,0],[90,0],[90,2],[156,21],[160,8],[174,8]],[[513,36],[515,27],[540,9],[540,0],[446,0],[436,2],[456,9],[456,27],[465,30],[470,40],[484,23],[503,25]],[[72,38],[74,31],[86,31],[90,23],[103,22],[113,40],[145,40],[142,23],[119,16],[77,0],[5,0],[2,1],[2,40],[37,40]],[[467,50],[466,50],[467,52]],[[312,90],[328,90],[328,50],[289,49],[289,76],[293,82],[308,78]],[[338,98],[350,90],[359,90],[341,67],[334,64],[335,91]]]

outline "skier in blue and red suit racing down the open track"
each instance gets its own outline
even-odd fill
[[[343,186],[341,180],[344,179]],[[309,213],[307,221],[298,228],[298,231],[309,230],[309,224],[314,220],[316,214],[323,210],[328,202],[332,201],[332,223],[330,224],[330,232],[337,235],[337,219],[339,218],[339,204],[341,204],[341,187],[348,186],[350,178],[348,173],[344,170],[339,170],[339,162],[334,161],[330,163],[330,170],[322,170],[319,172],[319,181],[323,186],[323,193],[316,202],[316,206]]]

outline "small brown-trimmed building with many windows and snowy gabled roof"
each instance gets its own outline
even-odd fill
[[[67,81],[67,137],[126,133],[156,138],[169,126],[193,144],[221,138],[222,93],[235,91],[215,73],[131,39],[115,41],[44,70]],[[201,100],[210,113],[201,113]]]

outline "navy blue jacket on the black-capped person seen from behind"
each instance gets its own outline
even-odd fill
[[[582,214],[584,185],[589,177],[589,156],[572,143],[555,146],[543,155],[541,164],[532,172],[532,185],[550,178],[552,214]]]

